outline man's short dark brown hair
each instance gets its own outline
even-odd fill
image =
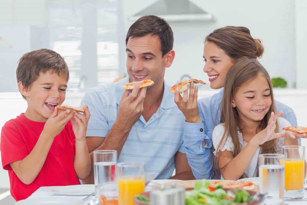
[[[129,37],[143,37],[148,34],[157,35],[160,38],[162,56],[173,49],[172,28],[163,18],[153,15],[142,16],[130,26],[126,36],[126,45]]]

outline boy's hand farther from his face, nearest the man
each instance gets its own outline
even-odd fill
[[[85,111],[83,114],[76,112],[71,119],[72,130],[74,131],[76,140],[79,141],[85,140],[87,123],[91,115],[87,105],[84,105],[83,109]]]

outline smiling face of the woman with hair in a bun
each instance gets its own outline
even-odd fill
[[[226,74],[234,62],[222,49],[210,41],[205,42],[203,57],[206,62],[204,72],[209,76],[210,87],[223,88]]]

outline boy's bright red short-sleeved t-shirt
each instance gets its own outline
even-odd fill
[[[10,191],[16,201],[26,199],[39,187],[80,184],[74,168],[75,135],[69,121],[50,147],[45,164],[34,181],[22,183],[10,163],[24,159],[34,148],[45,122],[35,122],[23,113],[9,120],[1,130],[0,152],[2,167],[9,171]]]

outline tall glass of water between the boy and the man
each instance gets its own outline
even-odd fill
[[[95,196],[100,204],[118,199],[117,178],[116,178],[116,150],[94,151],[94,182]]]

